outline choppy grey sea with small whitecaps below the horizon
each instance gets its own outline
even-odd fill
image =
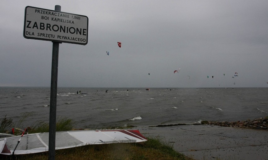
[[[72,119],[77,129],[101,129],[268,116],[268,88],[146,89],[58,87],[57,119]],[[0,100],[0,120],[6,116],[21,127],[49,122],[50,87],[0,87]]]

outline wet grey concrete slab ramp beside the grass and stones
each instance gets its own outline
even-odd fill
[[[144,136],[162,137],[174,150],[196,160],[268,160],[267,130],[215,125],[138,128]]]

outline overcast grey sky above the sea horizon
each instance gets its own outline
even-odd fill
[[[59,45],[59,87],[268,86],[266,0],[0,3],[0,86],[50,86],[52,42],[23,27],[26,6],[55,5],[89,19],[87,45]]]

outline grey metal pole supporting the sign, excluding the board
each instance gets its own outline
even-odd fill
[[[60,10],[61,6],[55,5],[55,11]],[[59,62],[59,42],[53,42],[51,84],[50,84],[48,160],[55,160],[58,62]]]

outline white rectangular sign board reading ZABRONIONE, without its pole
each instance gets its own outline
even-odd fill
[[[27,39],[86,45],[87,16],[25,7],[23,36]]]

